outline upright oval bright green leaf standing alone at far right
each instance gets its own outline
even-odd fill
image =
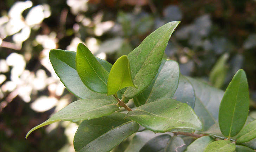
[[[249,91],[245,72],[238,70],[219,106],[219,127],[226,137],[235,136],[244,126],[249,112]]]

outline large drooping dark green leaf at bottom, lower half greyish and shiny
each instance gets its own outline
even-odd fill
[[[139,129],[139,124],[124,120],[125,114],[113,113],[108,116],[83,121],[74,137],[76,151],[110,151]]]

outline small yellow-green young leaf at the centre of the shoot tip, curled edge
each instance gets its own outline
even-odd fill
[[[130,64],[127,56],[121,56],[116,60],[110,70],[107,86],[107,95],[115,94],[117,91],[125,87],[135,87],[131,78]]]

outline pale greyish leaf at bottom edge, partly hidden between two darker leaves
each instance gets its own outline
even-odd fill
[[[124,152],[139,152],[139,150],[152,138],[164,133],[154,133],[150,130],[136,132],[129,146]]]

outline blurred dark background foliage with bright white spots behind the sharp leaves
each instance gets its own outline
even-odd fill
[[[243,68],[256,118],[255,0],[1,0],[0,10],[0,151],[74,151],[76,123],[53,123],[25,139],[76,100],[53,71],[50,49],[76,51],[83,42],[113,64],[175,20],[166,58],[223,90]]]

